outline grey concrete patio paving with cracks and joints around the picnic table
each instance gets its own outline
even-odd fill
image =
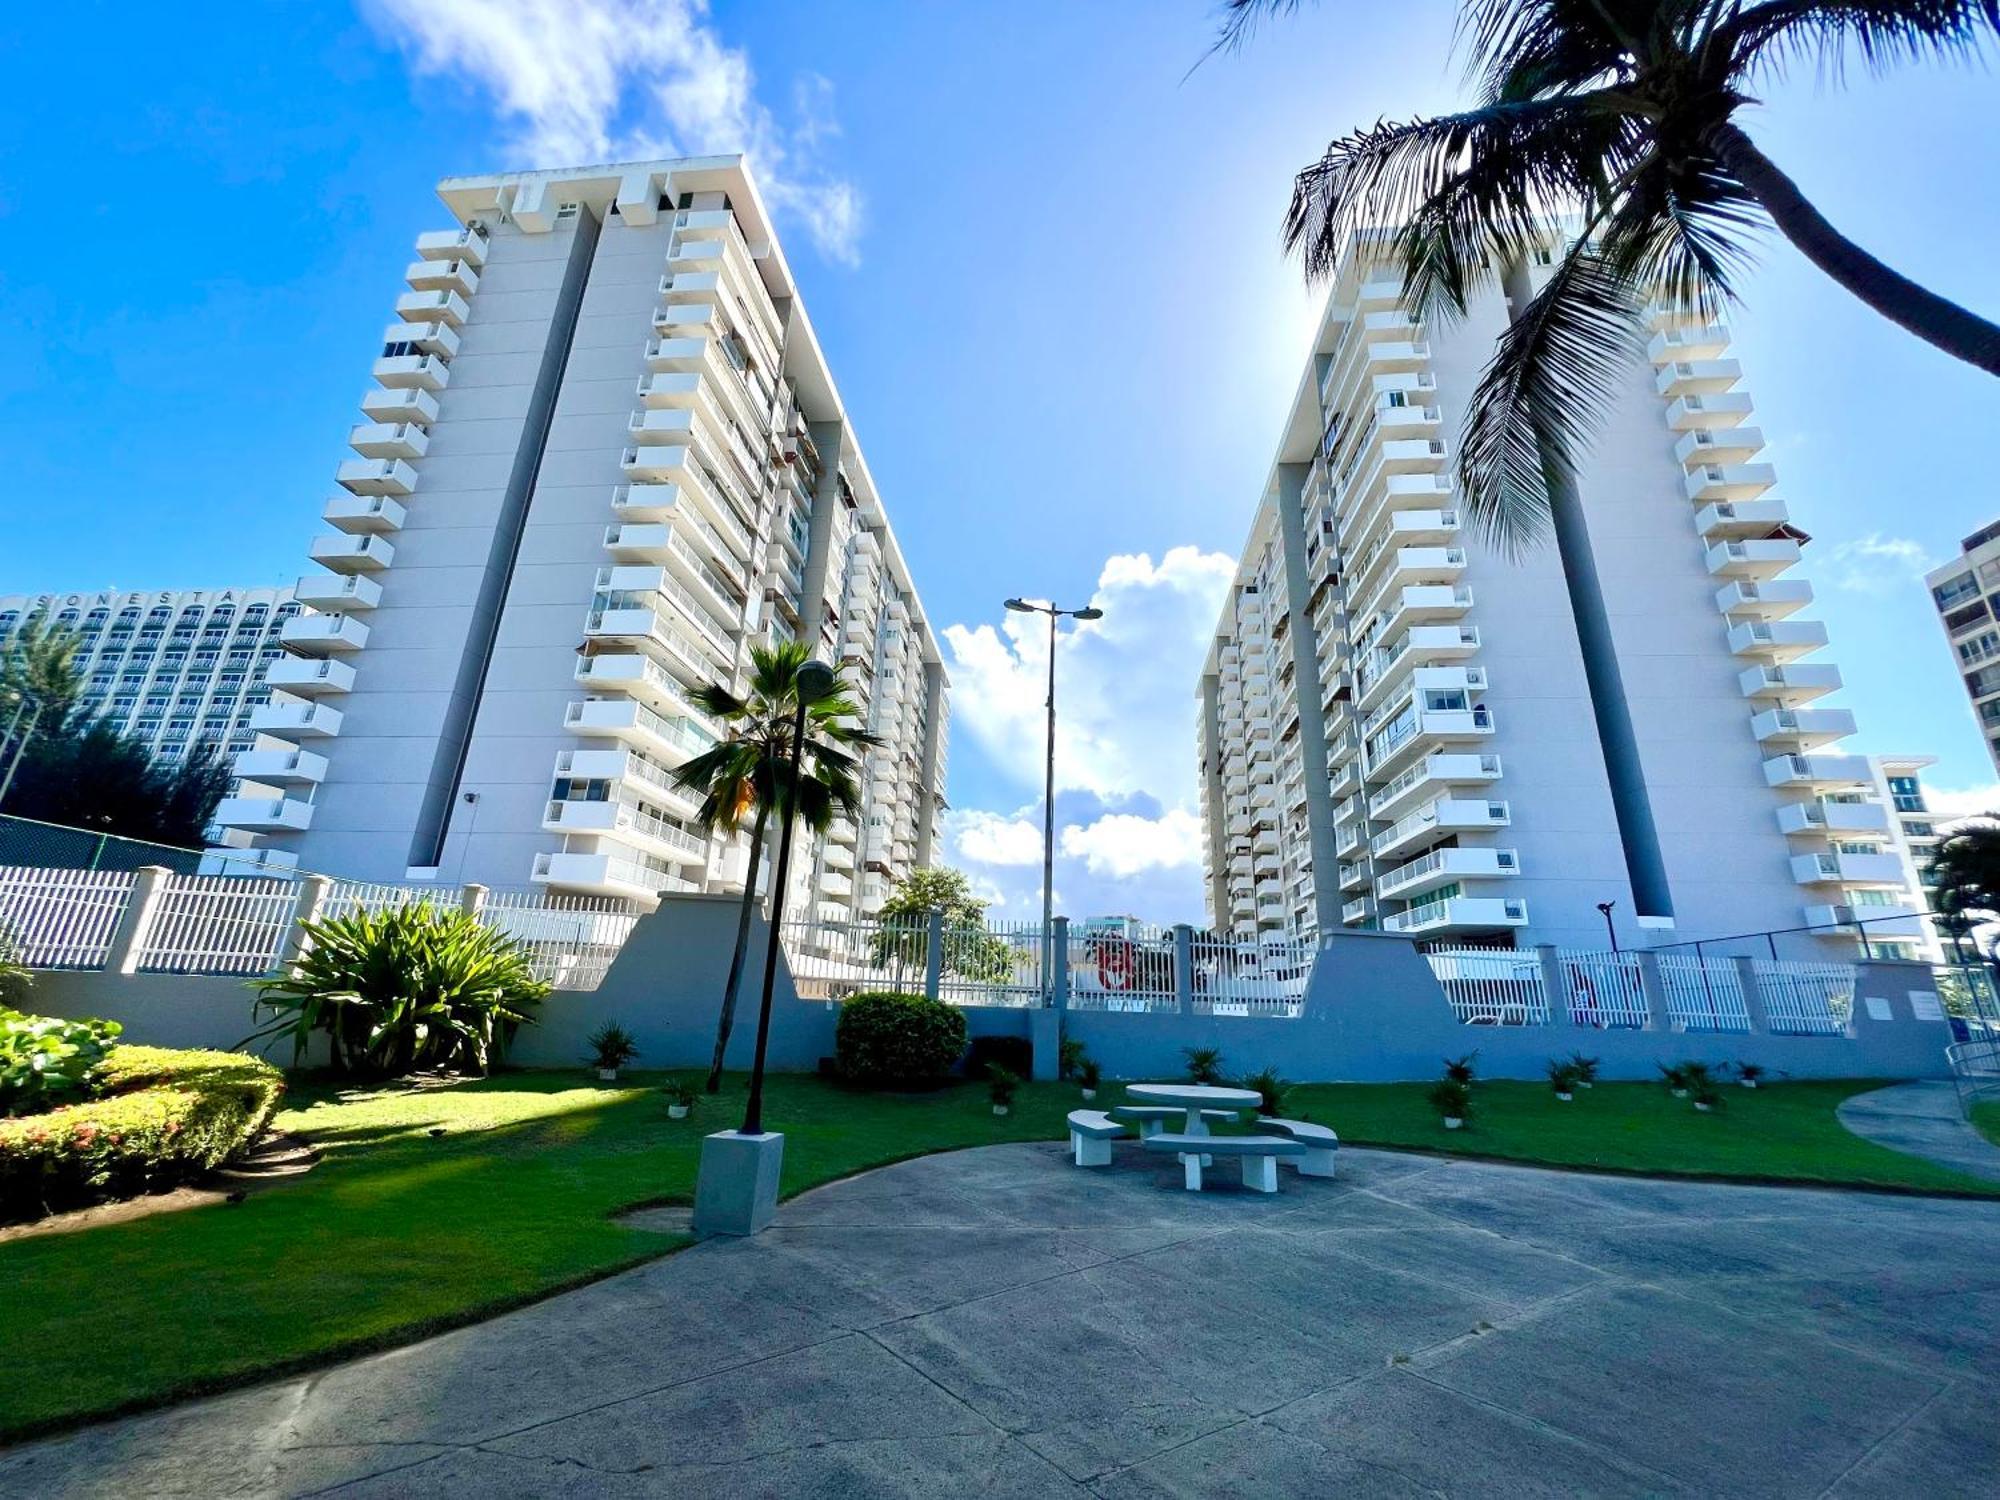
[[[1992,1494],[2000,1204],[932,1156],[752,1242],[0,1454],[22,1496]]]

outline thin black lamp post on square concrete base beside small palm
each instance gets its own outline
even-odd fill
[[[740,1130],[718,1130],[702,1142],[694,1180],[696,1234],[756,1234],[778,1212],[778,1172],[784,1136],[764,1130],[764,1054],[770,1048],[770,1000],[778,978],[778,938],[784,930],[784,896],[792,878],[792,822],[798,816],[798,778],[806,750],[806,710],[834,690],[834,670],[824,662],[798,668],[792,706],[792,744],[778,822],[776,890],[770,900],[770,944],[764,950],[764,992],[758,1000],[756,1052],[750,1058],[750,1100]]]

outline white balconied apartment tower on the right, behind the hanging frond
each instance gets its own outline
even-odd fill
[[[1378,238],[1332,282],[1198,684],[1210,922],[1444,944],[1640,940],[1554,546],[1466,526],[1454,440],[1494,340],[1550,274],[1510,266],[1426,326]],[[1648,358],[1582,460],[1580,504],[1674,930],[1802,928],[1904,866],[1806,544],[1770,494],[1730,336],[1650,314]],[[1852,948],[1788,938],[1802,954]]]

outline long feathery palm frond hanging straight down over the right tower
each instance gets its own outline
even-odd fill
[[[1548,534],[1548,482],[1574,478],[1638,358],[1642,300],[1580,240],[1500,336],[1466,412],[1458,482],[1472,526],[1502,552],[1518,556]]]

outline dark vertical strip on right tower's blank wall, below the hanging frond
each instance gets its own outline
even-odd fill
[[[1598,582],[1598,560],[1590,550],[1584,506],[1576,484],[1548,460],[1542,462],[1542,482],[1548,486],[1556,554],[1562,558],[1562,582],[1570,592],[1576,644],[1584,658],[1584,686],[1590,690],[1590,712],[1604,752],[1604,780],[1612,792],[1626,880],[1632,884],[1632,914],[1670,926],[1674,898],[1666,888],[1660,830],[1652,822],[1652,798],[1646,796],[1638,734],[1632,730],[1632,706],[1626,702],[1624,674],[1618,670],[1618,646],[1612,640],[1610,616],[1604,612],[1604,586]]]

